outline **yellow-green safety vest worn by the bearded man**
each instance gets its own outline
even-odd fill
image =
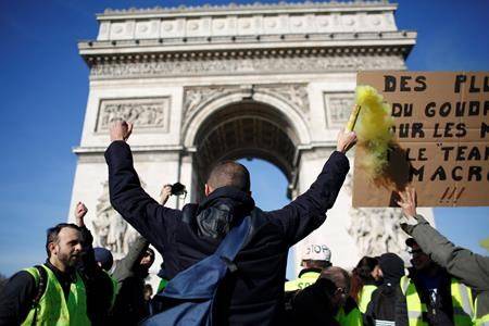
[[[87,315],[87,293],[84,281],[76,273],[76,283],[70,286],[70,296],[66,302],[63,288],[58,281],[54,273],[45,265],[47,273],[46,291],[39,300],[36,325],[90,325]],[[24,269],[28,272],[39,283],[39,272],[36,267]],[[35,309],[30,309],[26,319],[22,325],[33,325]]]

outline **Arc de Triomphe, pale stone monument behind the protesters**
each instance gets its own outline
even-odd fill
[[[356,72],[405,70],[416,33],[398,30],[396,9],[385,1],[280,2],[97,15],[97,39],[78,45],[90,90],[70,216],[84,201],[97,244],[116,256],[134,239],[108,198],[103,152],[117,117],[135,123],[136,170],[154,198],[179,180],[199,200],[213,163],[249,156],[281,170],[291,198],[305,191],[350,114]],[[314,239],[344,267],[364,254],[401,252],[398,218],[393,210],[352,209],[350,175],[326,223],[297,246],[296,263]]]

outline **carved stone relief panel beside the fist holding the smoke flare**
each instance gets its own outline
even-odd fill
[[[344,126],[350,117],[353,103],[353,92],[324,92],[326,127],[335,128]]]

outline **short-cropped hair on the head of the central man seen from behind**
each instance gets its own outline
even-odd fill
[[[235,161],[222,161],[211,171],[208,185],[214,189],[231,186],[241,191],[250,191],[250,173],[244,165]]]

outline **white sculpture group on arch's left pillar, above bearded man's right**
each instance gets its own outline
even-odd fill
[[[92,221],[98,247],[109,249],[114,259],[124,258],[138,237],[138,231],[123,220],[109,199],[109,183],[102,184],[102,195],[98,199],[96,218]]]

